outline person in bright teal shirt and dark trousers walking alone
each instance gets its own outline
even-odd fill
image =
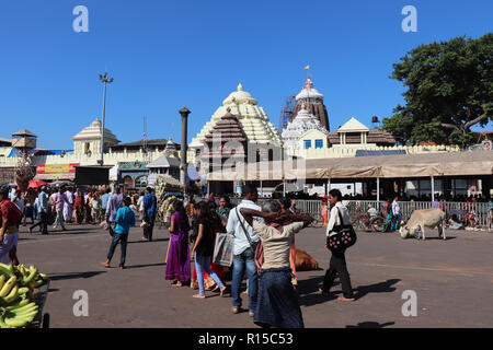
[[[126,197],[123,200],[123,207],[118,209],[116,212],[116,226],[115,233],[113,235],[112,244],[110,246],[110,252],[107,253],[107,260],[105,262],[101,262],[104,267],[110,268],[110,262],[113,258],[113,254],[115,253],[116,245],[119,243],[122,248],[122,255],[119,259],[119,268],[123,270],[125,268],[125,258],[127,255],[127,241],[128,241],[128,231],[130,230],[130,225],[135,226],[135,214],[134,211],[129,208],[131,205],[130,197]],[[110,229],[111,230],[111,229]]]

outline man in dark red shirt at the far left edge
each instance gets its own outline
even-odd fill
[[[9,189],[0,189],[0,262],[19,265],[16,247],[22,212],[9,200]]]

